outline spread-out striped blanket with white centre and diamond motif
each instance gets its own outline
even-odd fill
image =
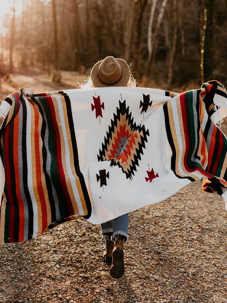
[[[181,94],[115,87],[9,95],[0,106],[0,242],[78,215],[99,224],[201,179],[227,201],[227,141],[217,125],[226,115],[216,81]]]

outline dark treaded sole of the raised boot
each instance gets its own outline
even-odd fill
[[[114,279],[120,279],[124,275],[124,253],[117,248],[113,251],[113,263],[110,268],[110,276]]]

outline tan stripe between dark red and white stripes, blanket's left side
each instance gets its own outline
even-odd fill
[[[61,121],[60,115],[59,115],[58,102],[56,100],[56,97],[52,96],[52,100],[53,100],[53,104],[54,104],[56,120]],[[63,106],[64,120],[67,120],[67,118],[65,117],[65,113],[66,113],[65,99],[64,99],[64,97],[62,98],[62,96],[61,96],[61,102],[62,102],[62,106]],[[64,174],[65,174],[65,182],[66,182],[67,190],[68,190],[68,193],[69,193],[72,205],[73,205],[74,213],[79,214],[76,199],[75,199],[74,192],[72,189],[72,184],[71,184],[68,172],[67,172],[66,159],[65,159],[65,142],[64,142],[64,135],[63,135],[62,127],[58,126],[58,129],[59,129],[59,134],[60,134],[60,139],[61,139],[61,155],[62,155],[61,159],[62,159],[62,166],[63,166],[63,170],[64,170]],[[67,133],[68,133],[68,131],[67,131]]]

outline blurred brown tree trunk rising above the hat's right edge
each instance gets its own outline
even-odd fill
[[[125,35],[124,35],[124,45],[125,45],[124,59],[127,62],[129,62],[129,60],[130,60],[134,5],[135,5],[134,1],[127,0],[126,28],[125,28]]]

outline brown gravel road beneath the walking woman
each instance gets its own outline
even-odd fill
[[[0,245],[0,302],[227,302],[227,212],[201,184],[130,214],[119,280],[102,261],[100,227],[84,219]]]

